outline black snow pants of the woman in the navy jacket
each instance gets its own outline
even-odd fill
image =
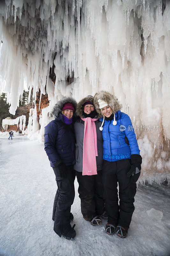
[[[53,167],[55,180],[57,182],[57,192],[54,199],[53,217],[54,231],[61,237],[62,233],[67,233],[70,228],[70,210],[75,197],[74,180],[76,177],[73,165],[69,165],[67,177],[61,178],[57,167]]]

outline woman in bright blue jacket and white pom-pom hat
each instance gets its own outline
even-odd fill
[[[96,111],[101,114],[103,135],[102,182],[105,209],[108,215],[106,233],[124,238],[128,234],[135,210],[134,196],[142,157],[130,117],[121,112],[117,98],[105,91],[94,96]],[[119,199],[117,182],[119,184]]]

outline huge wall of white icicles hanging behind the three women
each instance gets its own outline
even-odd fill
[[[24,82],[29,99],[33,88],[34,102],[39,89],[49,93],[41,129],[35,116],[29,128],[39,138],[62,96],[80,100],[101,89],[114,93],[134,125],[143,157],[141,180],[160,183],[170,178],[169,37],[168,0],[4,0],[0,88],[7,92],[11,114]],[[48,78],[53,63],[55,87]]]

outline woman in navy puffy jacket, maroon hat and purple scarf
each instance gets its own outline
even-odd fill
[[[44,132],[44,145],[50,165],[55,173],[57,192],[54,199],[53,217],[54,231],[61,237],[71,239],[76,236],[75,225],[71,228],[70,213],[74,201],[75,171],[75,135],[73,119],[77,102],[71,97],[63,97],[53,108],[55,120],[51,121]]]

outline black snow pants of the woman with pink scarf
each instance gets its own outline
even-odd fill
[[[98,171],[96,175],[82,175],[82,172],[76,171],[76,177],[83,218],[92,220],[92,218],[104,212],[101,171]]]

